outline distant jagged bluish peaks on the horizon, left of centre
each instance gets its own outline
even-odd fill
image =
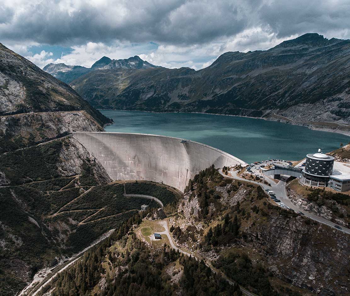
[[[123,60],[112,60],[109,57],[102,57],[97,62],[95,62],[91,68],[86,68],[82,66],[71,66],[63,63],[47,64],[43,70],[57,79],[70,83],[76,78],[83,76],[84,74],[90,73],[94,70],[106,70],[106,69],[148,69],[148,68],[158,68],[147,61],[142,60],[139,56],[135,55],[130,58],[125,58]]]

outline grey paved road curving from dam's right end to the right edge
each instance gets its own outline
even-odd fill
[[[238,180],[242,180],[242,181],[247,181],[246,179],[243,179],[243,178],[237,176],[238,171],[235,171],[235,172],[231,173],[232,177],[229,177],[229,176],[223,174],[221,170],[220,170],[220,173],[224,177],[228,177],[228,178],[232,178],[232,179],[238,179]],[[258,182],[255,182],[255,181],[250,181],[250,182],[254,183],[254,184],[257,184],[257,185],[260,185],[265,190],[272,190],[272,191],[274,191],[275,194],[276,194],[276,197],[278,199],[280,199],[283,204],[285,204],[287,207],[293,209],[295,212],[302,212],[305,216],[307,216],[310,219],[313,219],[313,220],[315,220],[317,222],[320,222],[320,223],[323,223],[325,225],[328,225],[328,226],[332,227],[335,230],[339,230],[339,231],[342,231],[344,233],[350,234],[350,229],[349,228],[346,228],[346,227],[342,226],[342,230],[337,229],[337,228],[334,227],[334,225],[335,225],[334,222],[331,222],[331,221],[329,221],[327,219],[324,219],[324,218],[322,218],[320,216],[317,216],[315,214],[306,212],[306,211],[304,211],[304,210],[302,210],[300,208],[297,208],[295,205],[293,205],[292,202],[289,200],[288,195],[287,195],[287,191],[286,191],[286,180],[287,180],[287,178],[288,177],[281,176],[281,180],[277,184],[274,183],[273,181],[271,181],[271,186],[268,186],[268,185],[265,185],[265,184],[262,184],[262,183],[258,183]]]

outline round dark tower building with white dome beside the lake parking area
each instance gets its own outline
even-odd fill
[[[334,157],[322,153],[321,150],[314,154],[307,154],[301,183],[326,187],[329,176],[333,172],[333,165]]]

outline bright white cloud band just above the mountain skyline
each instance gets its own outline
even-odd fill
[[[289,36],[287,39],[297,37]],[[142,60],[166,68],[190,67],[199,70],[210,66],[216,58],[227,51],[265,50],[282,42],[271,30],[261,28],[247,29],[235,37],[226,37],[205,44],[192,44],[188,46],[160,44],[158,47],[149,44],[132,44],[130,42],[115,41],[109,45],[102,42],[88,42],[84,45],[73,46],[72,52],[53,60],[51,56],[42,51],[40,55],[26,57],[39,67],[48,63],[64,63],[91,67],[103,56],[114,59],[128,58],[138,55]]]

